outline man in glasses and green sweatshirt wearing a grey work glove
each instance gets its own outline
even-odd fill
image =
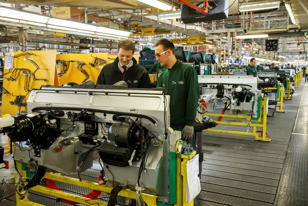
[[[170,95],[170,127],[182,132],[182,140],[196,149],[193,126],[197,114],[200,87],[196,70],[176,60],[174,44],[167,39],[155,43],[156,60],[168,69],[157,80],[157,87],[167,89]]]

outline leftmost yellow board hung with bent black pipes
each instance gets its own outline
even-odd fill
[[[58,83],[58,74],[55,70],[55,60],[56,60],[56,50],[45,50],[45,51],[31,51],[34,55],[30,55],[28,58],[32,59],[41,69],[35,72],[35,78],[37,79],[47,79],[46,81],[39,80],[34,81],[33,77],[31,76],[31,81],[29,84],[29,89],[39,89],[41,85],[59,85]],[[13,56],[21,54],[24,52],[14,52]],[[11,53],[4,53],[11,54]],[[34,72],[36,69],[35,65],[30,61],[25,60],[26,56],[20,56],[18,58],[14,58],[14,68],[25,68],[29,69],[31,73]],[[7,65],[8,62],[5,62]],[[10,68],[10,67],[9,67]],[[12,69],[12,72],[14,69]],[[5,67],[4,74],[9,72],[9,69]],[[3,78],[3,87],[10,92],[10,94],[3,94],[2,95],[2,115],[3,114],[10,114],[16,115],[16,112],[19,111],[19,107],[16,105],[11,105],[11,102],[14,102],[15,96],[17,95],[26,95],[28,91],[24,90],[26,75],[23,74],[21,71],[19,74],[19,78],[16,81],[8,81],[6,78],[9,78],[12,75],[12,72],[9,74],[4,75]],[[14,95],[14,96],[13,96]],[[24,98],[23,102],[26,102],[29,98],[29,94]],[[25,110],[25,107],[21,107],[21,110]]]

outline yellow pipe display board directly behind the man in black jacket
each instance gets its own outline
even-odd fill
[[[99,73],[101,72],[104,65],[97,65],[95,68],[91,67],[89,63],[93,60],[93,57],[99,57],[103,60],[108,59],[108,53],[80,53],[80,54],[58,54],[56,59],[61,59],[65,61],[75,60],[75,61],[83,61],[86,63],[82,68],[87,71],[87,73],[90,75],[90,78],[87,80],[92,80],[94,83],[96,83],[96,80],[99,76]],[[69,68],[63,76],[59,77],[59,84],[60,86],[68,83],[68,82],[75,82],[77,84],[81,84],[83,80],[85,79],[85,76],[77,70],[77,62],[71,62],[69,65]],[[63,69],[63,66],[60,66],[60,71]]]

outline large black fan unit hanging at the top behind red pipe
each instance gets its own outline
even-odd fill
[[[194,6],[205,10],[205,1],[192,2]],[[181,19],[183,23],[207,22],[220,19],[227,19],[229,13],[229,0],[214,0],[208,1],[208,13],[204,14],[201,11],[182,5]]]

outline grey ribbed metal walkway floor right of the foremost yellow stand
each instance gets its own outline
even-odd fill
[[[200,205],[308,205],[308,135],[297,134],[308,134],[308,83],[305,87],[304,83],[298,85],[292,100],[283,102],[286,113],[267,116],[270,143],[203,132]],[[247,131],[232,125],[215,129]],[[301,192],[296,192],[297,188]]]

